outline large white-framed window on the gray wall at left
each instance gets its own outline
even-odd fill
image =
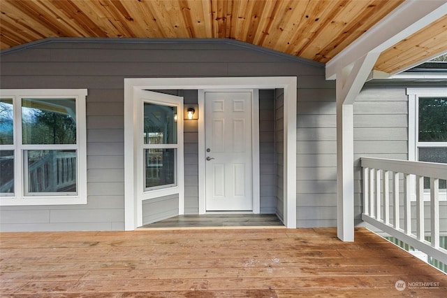
[[[1,90],[1,205],[87,203],[87,90]]]

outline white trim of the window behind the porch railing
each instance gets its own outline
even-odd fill
[[[419,98],[420,97],[447,97],[446,87],[418,87],[406,88],[408,96],[408,159],[418,160],[419,147],[447,147],[447,142],[427,143],[418,141],[419,131]],[[411,178],[416,184],[416,177]],[[416,194],[411,194],[411,201],[416,201]],[[430,201],[430,193],[424,193],[424,201]],[[439,201],[447,201],[447,192],[439,192]]]

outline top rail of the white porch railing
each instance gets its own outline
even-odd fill
[[[447,164],[436,162],[410,162],[408,160],[375,157],[361,157],[360,160],[362,167],[364,168],[382,169],[447,180]]]

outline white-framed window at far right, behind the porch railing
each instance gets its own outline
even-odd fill
[[[408,88],[407,94],[409,160],[447,164],[447,88]],[[430,188],[429,178],[424,185]],[[446,192],[446,180],[439,180],[439,189]]]

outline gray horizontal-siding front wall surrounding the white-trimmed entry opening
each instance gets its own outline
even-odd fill
[[[0,66],[2,88],[88,89],[87,205],[3,206],[3,231],[124,229],[124,78],[136,77],[296,76],[298,227],[335,226],[335,85],[323,64],[220,39],[61,38],[5,50]],[[194,171],[187,213],[197,208]]]

